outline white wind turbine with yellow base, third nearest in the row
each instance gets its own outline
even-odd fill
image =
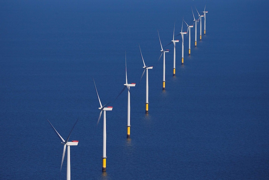
[[[131,128],[131,123],[130,123],[130,87],[135,87],[135,83],[128,84],[127,82],[127,67],[126,67],[126,52],[125,52],[125,87],[127,87],[128,90],[128,100],[127,100],[127,138],[130,138],[130,128]],[[123,89],[123,90],[124,90]]]

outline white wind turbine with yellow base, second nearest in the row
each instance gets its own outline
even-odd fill
[[[93,79],[93,78],[92,78]],[[99,100],[99,103],[100,103],[100,107],[98,109],[100,109],[100,114],[99,114],[99,118],[98,118],[98,121],[97,121],[97,125],[100,121],[100,118],[101,118],[101,115],[102,115],[102,112],[104,111],[104,120],[103,120],[103,168],[102,168],[102,171],[105,172],[106,171],[106,116],[105,116],[105,111],[112,111],[112,106],[107,106],[105,107],[106,105],[108,105],[109,103],[105,104],[104,106],[102,106],[102,103],[100,101],[100,98],[99,98],[99,95],[98,95],[98,92],[97,92],[97,89],[96,89],[96,85],[95,85],[95,81],[93,79],[93,82],[94,82],[94,86],[95,86],[95,90],[96,90],[96,94],[98,96],[98,100]],[[97,126],[96,125],[96,126]]]

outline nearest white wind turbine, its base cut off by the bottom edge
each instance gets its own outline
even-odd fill
[[[47,120],[47,119],[46,119]],[[62,169],[62,165],[63,165],[63,161],[64,161],[64,158],[65,158],[65,152],[66,152],[66,146],[67,146],[67,165],[66,165],[66,180],[70,180],[71,179],[71,172],[70,172],[70,146],[77,146],[78,144],[78,141],[71,141],[71,142],[68,142],[69,140],[69,137],[71,135],[71,132],[73,131],[78,119],[76,120],[73,128],[71,129],[68,137],[66,138],[66,140],[64,140],[62,138],[62,136],[56,131],[56,129],[52,126],[51,122],[49,120],[47,120],[51,127],[54,129],[54,131],[56,132],[57,136],[60,138],[60,140],[62,141],[61,144],[64,145],[64,149],[63,149],[63,156],[62,156],[62,162],[61,162],[61,169]],[[61,171],[61,170],[60,170]]]

